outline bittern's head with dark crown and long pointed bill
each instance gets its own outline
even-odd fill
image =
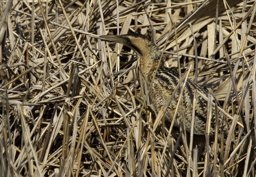
[[[153,50],[159,50],[158,47],[151,42],[151,40],[145,35],[138,33],[130,33],[123,35],[102,35],[103,39],[118,42],[129,47],[133,50],[137,56],[144,56],[154,52]]]

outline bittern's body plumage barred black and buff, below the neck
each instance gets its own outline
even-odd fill
[[[148,78],[153,78],[148,77]],[[160,108],[163,105],[166,105],[168,101],[171,99],[171,95],[174,89],[177,87],[179,83],[179,74],[177,71],[174,71],[168,67],[160,67],[157,75],[153,81],[153,87],[151,92],[149,93],[150,102],[154,105],[157,112],[160,111]],[[150,85],[150,79],[146,81],[147,86]],[[179,86],[178,86],[179,87]],[[200,91],[205,96],[207,93],[204,89],[199,87],[195,82],[191,79],[188,79],[186,82],[186,87],[183,92],[183,105],[180,105],[178,108],[177,117],[180,120],[181,126],[183,128],[183,116],[185,118],[185,128],[187,132],[191,131],[191,122],[192,122],[192,104],[193,104],[193,96],[195,90]],[[164,114],[164,118],[166,121],[172,122],[174,117],[174,111],[176,109],[178,99],[179,99],[180,91],[177,91],[174,98],[171,100],[171,103]],[[219,130],[224,131],[226,134],[227,129],[222,125],[221,115],[218,115],[219,118]],[[194,131],[193,134],[196,135],[205,135],[206,130],[206,120],[207,120],[207,101],[202,98],[200,95],[196,97],[196,105],[195,105],[195,117],[194,117]],[[211,117],[211,130],[210,130],[210,138],[214,138],[215,136],[215,107],[212,107],[212,117]],[[178,127],[177,121],[174,121],[174,126]],[[219,136],[220,138],[220,136]]]

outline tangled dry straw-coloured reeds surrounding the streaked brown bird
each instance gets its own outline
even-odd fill
[[[0,175],[255,177],[255,1],[217,1],[0,4]],[[130,32],[165,46],[169,67],[192,66],[225,142],[195,149],[163,132],[162,112],[142,106],[134,53],[97,38]]]

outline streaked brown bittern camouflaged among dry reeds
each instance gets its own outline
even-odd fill
[[[162,51],[159,47],[152,42],[147,36],[139,33],[129,33],[122,35],[101,35],[104,40],[113,41],[121,43],[133,50],[137,56],[137,65],[142,73],[142,83],[146,83],[147,87],[153,80],[152,89],[149,92],[150,103],[154,106],[156,112],[158,113],[162,106],[166,105],[171,98],[171,94],[177,87],[180,79],[179,73],[169,67],[164,66],[164,61],[160,62],[159,69],[157,66],[161,57]],[[156,76],[154,78],[154,75]],[[140,86],[141,87],[141,86]],[[186,86],[183,92],[183,106],[180,105],[178,108],[177,117],[180,119],[182,128],[183,120],[185,117],[185,129],[190,133],[191,122],[192,122],[192,105],[193,105],[193,95],[194,91],[198,90],[203,95],[207,97],[207,92],[198,86],[194,81],[188,78]],[[164,119],[167,122],[172,122],[174,111],[177,106],[178,98],[180,92],[177,91],[173,97],[168,109],[164,113]],[[218,112],[218,118],[221,118]],[[212,118],[209,138],[214,139],[215,137],[215,107],[212,108]],[[196,99],[195,104],[195,117],[194,117],[194,135],[206,135],[206,120],[207,120],[207,101],[203,99],[200,95]],[[174,122],[174,127],[178,127],[177,121]],[[219,130],[226,133],[227,129],[223,123],[219,123]],[[220,136],[218,137],[218,139]]]

